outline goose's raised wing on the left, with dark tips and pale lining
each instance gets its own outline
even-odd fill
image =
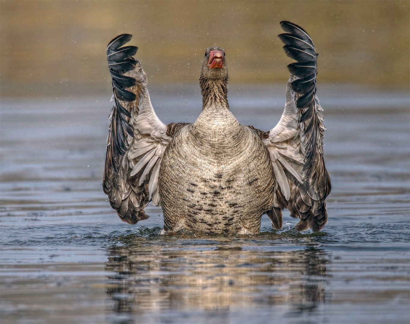
[[[159,166],[172,137],[151,104],[146,74],[133,57],[137,47],[121,47],[131,38],[129,34],[119,35],[107,47],[114,106],[103,189],[121,219],[135,224],[148,218],[144,208],[150,200],[160,205]]]

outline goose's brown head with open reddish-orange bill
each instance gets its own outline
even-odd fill
[[[200,79],[221,81],[228,79],[228,65],[222,47],[212,46],[206,49]]]

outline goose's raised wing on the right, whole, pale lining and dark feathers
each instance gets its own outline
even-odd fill
[[[282,21],[285,34],[278,37],[283,49],[297,62],[286,87],[286,104],[278,124],[264,139],[271,157],[280,192],[291,216],[301,218],[298,231],[315,232],[327,222],[325,199],[330,177],[323,160],[323,108],[316,96],[317,54],[312,38],[298,25]],[[269,215],[269,213],[268,213]]]

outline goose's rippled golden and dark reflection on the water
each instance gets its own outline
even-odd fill
[[[198,241],[109,248],[107,270],[116,272],[107,288],[112,311],[129,315],[120,322],[144,322],[134,315],[162,310],[221,316],[229,310],[274,311],[280,305],[296,315],[325,301],[329,258],[324,250],[266,251],[243,241],[214,248],[221,242],[211,247]]]

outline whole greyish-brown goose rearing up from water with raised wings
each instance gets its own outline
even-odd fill
[[[323,159],[323,108],[316,95],[318,54],[304,29],[288,21],[280,26],[285,54],[296,62],[287,66],[282,117],[269,131],[241,125],[230,111],[222,47],[209,47],[204,54],[199,117],[165,125],[134,58],[137,47],[123,46],[132,35],[109,42],[114,104],[103,190],[121,220],[147,219],[144,208],[152,201],[163,210],[162,234],[258,234],[263,214],[281,229],[285,208],[300,219],[298,231],[323,228],[331,184]]]

